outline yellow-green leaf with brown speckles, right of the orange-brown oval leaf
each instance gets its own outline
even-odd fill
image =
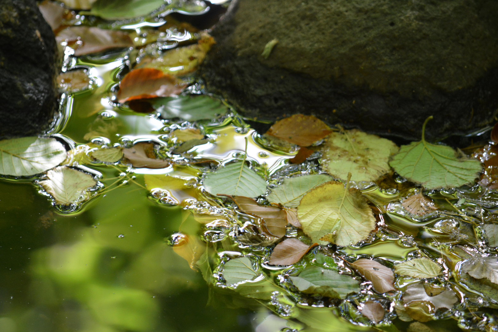
[[[390,170],[389,157],[398,147],[392,141],[363,131],[341,130],[327,137],[323,168],[330,175],[351,181],[375,181]]]

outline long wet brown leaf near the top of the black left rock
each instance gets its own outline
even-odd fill
[[[66,42],[73,48],[74,56],[133,46],[133,42],[125,32],[105,30],[95,26],[71,26],[60,31],[55,38],[58,43]]]

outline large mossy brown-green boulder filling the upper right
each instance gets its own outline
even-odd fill
[[[497,12],[496,0],[238,0],[202,75],[250,118],[314,114],[418,140],[434,115],[429,139],[467,134],[496,121]]]

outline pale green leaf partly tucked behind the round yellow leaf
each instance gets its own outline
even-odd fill
[[[329,181],[332,181],[332,177],[326,174],[287,178],[283,180],[280,186],[271,189],[267,199],[270,203],[280,203],[289,208],[296,208],[304,194],[316,186]]]

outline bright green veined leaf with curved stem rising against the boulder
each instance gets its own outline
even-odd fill
[[[427,189],[455,188],[473,183],[481,172],[481,162],[458,157],[449,146],[428,143],[424,131],[431,118],[424,122],[422,140],[402,145],[389,165],[400,176]]]

